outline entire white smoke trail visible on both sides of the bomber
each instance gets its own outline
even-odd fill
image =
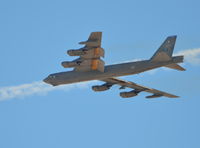
[[[175,55],[184,55],[186,63],[194,65],[200,64],[200,48],[183,50],[176,53]],[[154,74],[155,72],[156,71],[154,70],[149,71],[150,74]],[[51,85],[45,84],[42,81],[37,81],[16,86],[0,87],[0,101],[9,100],[13,98],[24,98],[31,95],[43,95],[54,90],[68,91],[74,88],[88,88],[89,84],[93,82],[83,82],[79,84],[61,85],[53,87]]]

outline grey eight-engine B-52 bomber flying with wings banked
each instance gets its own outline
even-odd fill
[[[140,92],[148,92],[152,95],[146,98],[169,97],[177,98],[178,96],[138,85],[134,82],[121,80],[116,77],[139,74],[144,71],[152,70],[159,67],[168,67],[184,71],[177,63],[183,62],[183,56],[172,56],[176,36],[169,36],[148,60],[127,62],[114,65],[106,65],[101,59],[104,57],[104,49],[101,47],[102,32],[92,32],[87,41],[80,42],[84,47],[80,49],[68,50],[70,56],[79,56],[78,59],[71,62],[65,61],[61,65],[64,68],[74,68],[72,71],[59,72],[50,74],[43,81],[53,86],[61,84],[71,84],[76,82],[100,80],[105,83],[102,85],[92,86],[94,91],[105,91],[113,85],[119,85],[120,89],[131,88],[132,91],[121,92],[120,96],[129,98],[137,96]]]

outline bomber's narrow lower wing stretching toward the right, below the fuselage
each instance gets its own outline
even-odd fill
[[[166,92],[163,92],[163,91],[160,91],[160,90],[156,90],[156,89],[153,89],[153,88],[148,88],[148,87],[145,87],[145,86],[142,86],[142,85],[138,85],[134,82],[125,81],[125,80],[121,80],[121,79],[118,79],[118,78],[108,78],[108,79],[104,79],[102,81],[106,82],[109,85],[115,85],[115,84],[120,85],[121,89],[126,88],[126,87],[132,88],[132,89],[134,89],[133,91],[131,91],[132,94],[135,93],[137,95],[138,93],[140,93],[142,91],[153,94],[151,96],[147,96],[146,98],[157,98],[157,97],[162,97],[162,96],[169,97],[169,98],[177,98],[178,97],[178,96],[175,96],[173,94],[169,94],[169,93],[166,93]],[[125,92],[125,94],[127,94],[127,97],[131,97],[131,96],[128,95],[128,93],[131,94],[131,92]],[[120,95],[121,94],[122,93],[120,93]],[[122,96],[122,97],[126,97],[126,95]]]

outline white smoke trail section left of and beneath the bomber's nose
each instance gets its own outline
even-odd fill
[[[91,83],[91,82],[90,82]],[[42,81],[32,82],[28,84],[21,84],[16,86],[0,87],[0,101],[8,100],[12,98],[24,98],[31,95],[44,95],[54,90],[68,91],[74,88],[87,88],[89,82],[83,82],[80,84],[61,85],[53,87],[45,84]]]

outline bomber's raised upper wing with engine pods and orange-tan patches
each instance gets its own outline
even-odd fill
[[[87,41],[79,42],[85,45],[80,49],[68,50],[70,56],[79,56],[72,62],[63,62],[63,67],[74,67],[75,71],[98,70],[104,72],[104,49],[101,48],[102,32],[92,32]],[[71,64],[71,65],[70,65]]]

